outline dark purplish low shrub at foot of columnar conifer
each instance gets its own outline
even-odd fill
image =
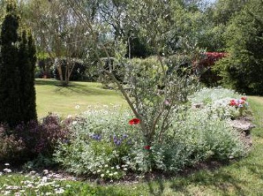
[[[58,116],[48,115],[40,123],[31,121],[14,129],[1,126],[0,160],[21,164],[40,155],[51,158],[58,141],[68,137],[68,123],[71,121],[62,124]]]

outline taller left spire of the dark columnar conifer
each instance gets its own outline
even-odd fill
[[[1,27],[1,62],[0,62],[0,122],[15,126],[21,121],[21,81],[18,62],[18,27],[19,17],[16,5],[10,1],[7,14]]]

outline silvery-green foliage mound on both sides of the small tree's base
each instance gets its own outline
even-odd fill
[[[154,137],[147,147],[138,125],[128,124],[131,114],[89,113],[73,122],[71,138],[60,143],[55,160],[73,173],[118,179],[130,172],[173,173],[201,161],[245,155],[238,133],[216,115],[205,109],[174,114],[162,142]]]

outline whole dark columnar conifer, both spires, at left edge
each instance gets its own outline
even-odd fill
[[[19,33],[20,22],[16,2],[8,1],[0,35],[0,123],[11,127],[36,120],[36,48],[31,35]]]

